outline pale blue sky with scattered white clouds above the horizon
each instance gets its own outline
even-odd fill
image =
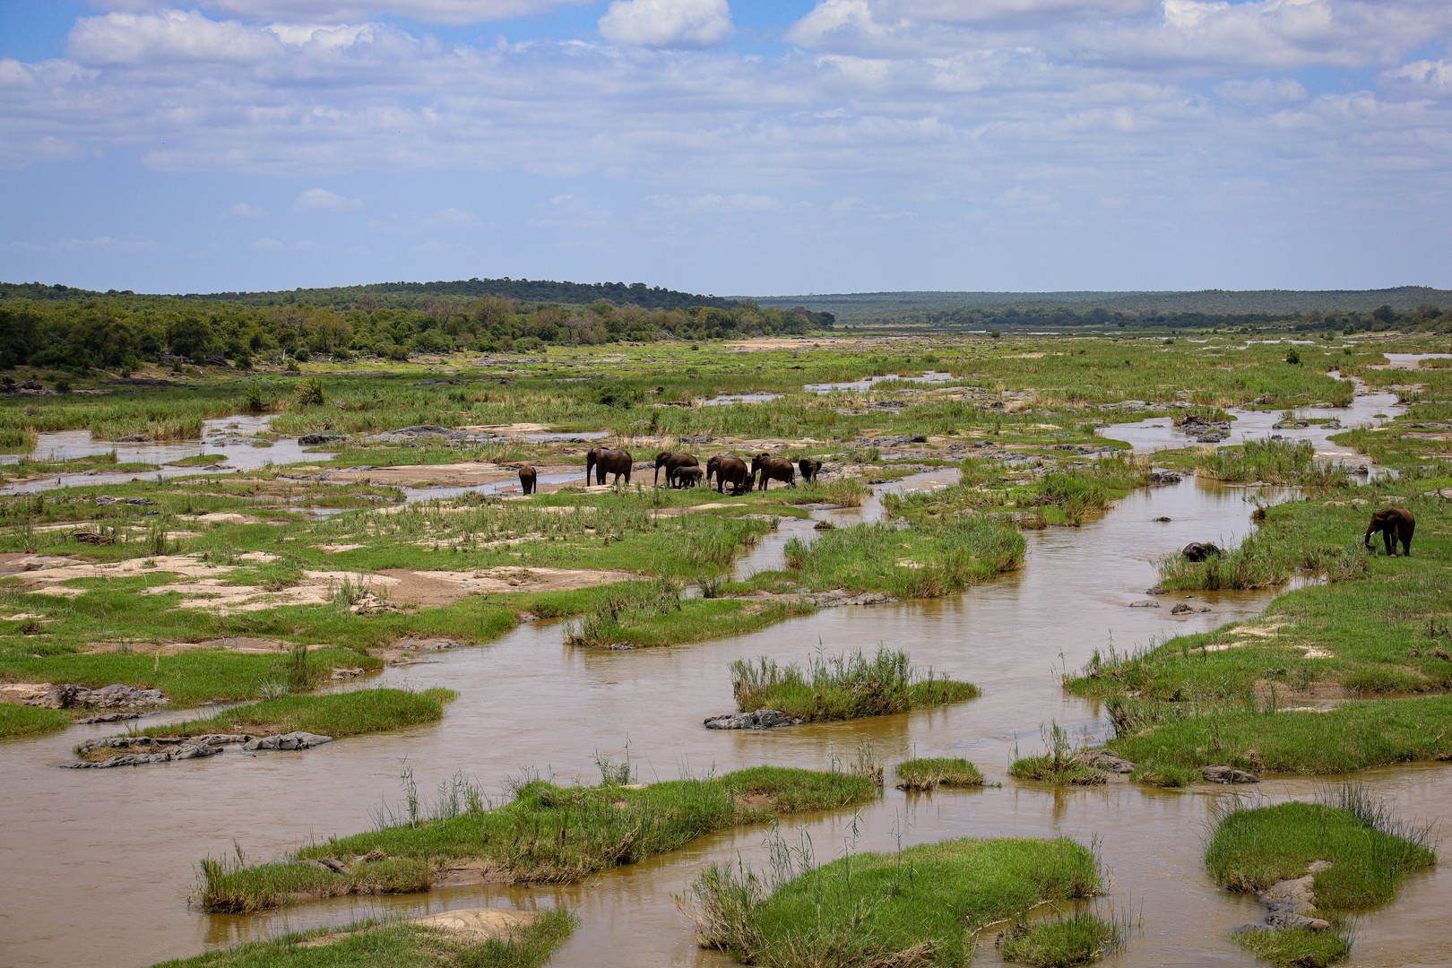
[[[0,0],[0,280],[1452,287],[1449,0]]]

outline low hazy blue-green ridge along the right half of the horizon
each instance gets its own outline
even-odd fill
[[[758,296],[762,306],[806,306],[831,312],[838,322],[886,322],[913,315],[960,308],[1048,309],[1063,306],[1085,311],[1134,313],[1268,313],[1295,315],[1311,309],[1323,312],[1369,312],[1391,306],[1406,312],[1424,303],[1448,306],[1452,290],[1427,286],[1394,289],[1202,289],[1198,292],[874,292],[831,293],[815,296]]]

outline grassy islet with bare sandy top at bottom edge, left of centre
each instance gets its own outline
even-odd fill
[[[539,968],[575,930],[575,916],[547,911],[507,939],[475,940],[423,924],[364,922],[251,942],[154,968]],[[337,935],[330,943],[321,939]],[[311,943],[309,943],[311,942]]]

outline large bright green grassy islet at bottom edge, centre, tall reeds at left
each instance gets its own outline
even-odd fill
[[[1096,858],[1073,840],[963,839],[848,856],[775,884],[711,865],[677,903],[703,948],[743,964],[964,965],[984,924],[1099,890]]]

